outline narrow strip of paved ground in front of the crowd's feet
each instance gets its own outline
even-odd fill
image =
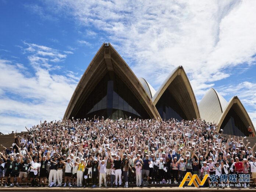
[[[131,191],[182,191],[182,192],[191,192],[191,191],[200,191],[200,192],[213,192],[213,191],[227,191],[227,192],[234,192],[234,191],[242,191],[242,192],[252,192],[252,191],[256,191],[256,188],[252,188],[249,187],[247,189],[244,188],[225,188],[225,189],[221,189],[221,188],[195,188],[195,187],[183,187],[183,188],[178,188],[178,187],[167,187],[167,186],[159,186],[159,187],[129,187],[129,188],[90,188],[90,187],[86,187],[86,188],[69,188],[69,187],[55,187],[55,188],[50,188],[50,187],[0,187],[0,191],[44,191],[44,192],[60,192],[60,191],[86,191],[86,192],[96,192],[96,191],[122,191],[122,192],[131,192]]]

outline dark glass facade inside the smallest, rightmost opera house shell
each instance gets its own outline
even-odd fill
[[[235,112],[234,109],[228,111],[227,116],[225,117],[223,123],[221,124],[220,129],[223,129],[223,134],[236,135],[236,136],[249,136],[248,130]]]

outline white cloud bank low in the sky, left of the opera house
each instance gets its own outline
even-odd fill
[[[31,71],[22,64],[0,60],[0,127],[4,133],[24,131],[40,120],[60,120],[78,83],[77,77],[68,75],[75,75],[72,71],[67,75],[51,72],[60,68],[54,62],[66,57],[61,51],[31,43],[25,46],[34,75],[28,76]]]

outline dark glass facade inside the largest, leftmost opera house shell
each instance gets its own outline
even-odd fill
[[[79,109],[76,118],[149,118],[144,107],[116,74],[106,74]]]

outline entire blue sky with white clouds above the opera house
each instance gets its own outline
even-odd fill
[[[237,95],[256,124],[255,10],[254,0],[0,0],[0,132],[60,120],[104,41],[155,89],[182,65],[198,103],[209,88]]]

